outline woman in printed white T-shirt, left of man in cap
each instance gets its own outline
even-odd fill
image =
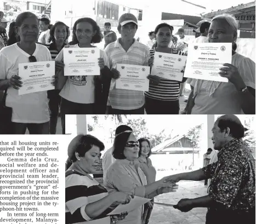
[[[67,45],[66,47],[69,48],[94,48],[95,46],[92,43],[100,43],[101,41],[100,27],[90,18],[78,19],[73,26],[72,32],[73,42],[77,44]],[[63,50],[60,51],[55,60],[64,61]],[[109,81],[106,82],[110,86],[111,73],[108,68],[109,60],[103,50],[100,50],[98,64],[101,76],[84,75],[68,76],[66,78],[66,76],[64,77],[64,72],[62,73],[61,77],[64,79],[64,86],[60,92],[60,112],[63,134],[65,134],[65,114],[95,114],[99,106],[106,104],[106,102],[103,103],[101,98],[105,97],[107,99],[107,96],[106,94],[101,95],[101,91],[103,91],[101,88],[106,81],[106,77],[109,77]],[[98,111],[98,113],[105,114],[105,110]]]

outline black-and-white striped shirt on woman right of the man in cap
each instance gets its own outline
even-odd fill
[[[184,55],[181,51],[171,49],[171,54]],[[155,55],[155,48],[150,50],[150,58]],[[145,96],[155,100],[174,101],[179,100],[180,82],[170,79],[160,78],[158,85],[149,84],[149,91],[145,92]]]

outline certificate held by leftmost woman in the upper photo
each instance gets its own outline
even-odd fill
[[[19,64],[19,77],[22,87],[19,95],[55,89],[53,76],[55,61],[38,61]]]

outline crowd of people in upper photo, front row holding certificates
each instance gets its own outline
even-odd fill
[[[3,25],[7,24],[2,12],[0,18]],[[195,43],[232,43],[232,63],[220,68],[220,76],[229,79],[227,83],[189,79],[193,89],[183,113],[255,114],[255,63],[236,53],[237,28],[235,18],[225,14],[215,16],[211,23],[202,22],[200,36],[195,30]],[[65,114],[180,113],[179,96],[187,78],[178,82],[149,74],[149,91],[145,92],[117,89],[116,79],[120,78],[117,64],[151,68],[155,52],[189,54],[183,28],[178,30],[177,39],[172,26],[159,24],[149,33],[150,43],[144,45],[134,38],[138,21],[130,13],[119,19],[117,30],[121,38],[117,39],[109,22],[103,35],[90,18],[78,19],[70,30],[63,22],[50,25],[49,19],[24,12],[10,24],[8,39],[3,35],[5,28],[1,29],[0,90],[5,91],[5,106],[12,108],[12,134],[24,134],[26,129],[30,134],[55,134],[58,115],[65,134]],[[68,43],[70,33],[72,41]],[[64,76],[64,48],[93,48],[103,39],[105,49],[100,49],[98,59],[100,76]],[[55,90],[19,95],[19,64],[50,60],[55,60]],[[180,72],[185,69],[184,66]]]

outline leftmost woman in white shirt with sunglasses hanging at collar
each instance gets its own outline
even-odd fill
[[[6,106],[12,107],[13,134],[25,134],[26,129],[30,134],[49,134],[47,91],[19,95],[19,64],[52,58],[47,47],[35,43],[39,32],[35,14],[19,14],[16,27],[20,42],[0,51],[0,90],[7,90]]]

